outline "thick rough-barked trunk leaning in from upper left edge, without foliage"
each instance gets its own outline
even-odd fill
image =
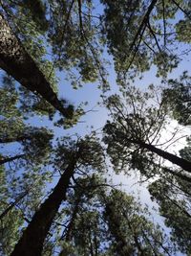
[[[0,68],[33,93],[38,93],[65,117],[72,117],[72,110],[64,107],[49,81],[24,49],[11,27],[0,13]]]

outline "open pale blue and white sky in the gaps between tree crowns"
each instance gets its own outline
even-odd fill
[[[190,70],[190,59],[191,54],[189,54],[184,60],[180,63],[180,66],[178,69],[176,69],[171,75],[170,78],[177,78],[180,76],[182,71],[184,70]],[[112,61],[111,61],[112,62]],[[118,87],[116,84],[116,74],[114,72],[114,65],[111,64],[109,71],[109,82],[111,85],[111,91],[108,92],[108,94],[115,94],[118,93]],[[74,134],[75,132],[78,133],[81,136],[84,136],[85,134],[88,134],[91,132],[94,127],[96,130],[100,130],[104,126],[107,118],[108,113],[107,110],[104,107],[101,107],[100,105],[97,105],[97,102],[100,101],[100,94],[102,93],[100,90],[97,89],[97,82],[95,83],[87,83],[82,88],[78,88],[77,90],[73,89],[70,82],[65,80],[65,76],[63,73],[57,73],[59,78],[59,85],[58,85],[58,93],[60,98],[66,98],[69,102],[72,104],[79,105],[81,102],[88,101],[88,105],[86,106],[86,110],[89,111],[86,115],[82,116],[80,119],[80,122],[74,126],[74,128],[63,130],[63,128],[53,128],[53,123],[50,122],[47,118],[32,118],[29,120],[30,124],[34,126],[47,126],[49,128],[53,128],[55,132],[55,137],[60,137],[67,134]],[[141,81],[136,80],[135,84],[139,88],[145,89],[145,87],[151,83],[158,84],[159,85],[159,79],[156,78],[156,68],[153,67],[149,72],[146,72],[143,76],[143,79]],[[171,128],[174,128],[177,126],[177,123],[174,121],[171,123]],[[168,130],[163,131],[162,138],[168,139],[170,136],[170,127]],[[184,129],[182,132],[185,134],[189,133],[189,129]],[[185,144],[185,139],[181,140],[180,142],[176,143],[176,146],[169,148],[168,150],[171,152],[178,152],[180,148],[183,148]],[[11,151],[14,151],[14,146],[11,146]],[[4,148],[4,152],[9,149]],[[146,189],[147,183],[139,184],[138,183],[138,177],[136,175],[133,175],[131,177],[127,177],[126,175],[120,174],[115,175],[112,170],[110,170],[113,179],[114,184],[121,184],[121,189],[126,191],[127,193],[133,194],[135,197],[140,198],[140,201],[143,204],[147,204],[150,210],[152,211],[153,218],[156,222],[159,222],[161,225],[163,225],[162,221],[163,219],[159,217],[159,215],[156,213],[156,211],[152,210],[152,207],[157,207],[157,204],[155,202],[152,202],[150,199],[150,195]],[[53,183],[56,183],[56,180],[53,181]],[[50,188],[53,187],[53,184],[50,185]],[[168,229],[166,229],[169,231]],[[177,254],[177,256],[180,256],[182,254]]]

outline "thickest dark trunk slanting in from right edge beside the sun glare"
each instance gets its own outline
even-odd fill
[[[137,140],[128,140],[127,139],[127,141],[130,143],[133,143],[133,144],[137,144],[142,149],[147,149],[148,151],[155,152],[159,156],[163,157],[164,159],[170,161],[173,164],[180,166],[180,168],[182,168],[183,170],[191,173],[191,162],[189,162],[173,153],[170,153],[167,151],[162,151],[151,144],[147,144],[147,143],[137,141]]]

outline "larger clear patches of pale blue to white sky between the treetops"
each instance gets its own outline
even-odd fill
[[[189,54],[186,58],[184,58],[183,61],[180,62],[180,66],[178,69],[174,70],[172,74],[170,74],[169,78],[176,79],[179,78],[180,74],[184,70],[190,71],[190,59],[191,55]],[[112,61],[111,61],[112,62]],[[143,75],[142,80],[136,80],[135,84],[141,88],[145,89],[149,84],[154,83],[155,85],[159,85],[160,80],[156,77],[156,67],[152,67],[152,69],[149,72],[145,72]],[[114,72],[114,66],[111,64],[111,68],[109,70],[109,81],[111,85],[111,91],[108,94],[115,94],[119,93],[118,86],[116,83],[116,74]],[[91,83],[91,84],[85,84],[82,88],[79,88],[77,90],[73,89],[71,87],[70,82],[64,80],[64,76],[60,74],[60,82],[59,82],[59,95],[60,97],[66,97],[70,102],[74,103],[74,105],[78,105],[80,102],[88,101],[89,105],[87,106],[87,109],[94,109],[93,112],[88,112],[85,116],[82,116],[80,121],[82,123],[77,124],[74,128],[70,128],[64,131],[64,133],[70,133],[73,134],[74,132],[77,132],[80,135],[87,134],[91,132],[91,127],[94,126],[94,129],[98,129],[101,131],[101,128],[104,126],[107,118],[108,113],[107,110],[104,107],[98,106],[96,103],[100,101],[100,94],[101,91],[97,89],[97,83]],[[172,121],[169,125],[169,127],[166,130],[162,131],[162,141],[166,141],[171,136],[171,131],[174,130],[175,127],[179,127],[181,132],[179,134],[179,137],[182,135],[190,134],[189,128],[183,128],[178,125],[177,121]],[[57,129],[57,135],[60,135],[60,132],[62,133],[62,130]],[[178,151],[185,146],[185,138],[177,141],[175,144],[170,146],[167,151],[172,153],[178,153]],[[168,161],[165,162],[167,166],[171,166],[171,163]],[[111,173],[110,173],[111,172]],[[128,194],[133,195],[135,198],[139,198],[142,205],[146,205],[148,207],[149,211],[152,214],[152,220],[155,223],[159,223],[161,227],[165,229],[165,232],[167,234],[170,233],[170,229],[167,228],[163,221],[164,218],[159,216],[159,213],[157,212],[158,204],[151,200],[150,194],[147,190],[148,182],[139,183],[139,177],[138,175],[132,175],[127,176],[124,174],[116,175],[113,170],[110,170],[110,177],[112,177],[113,184],[119,185],[118,188],[121,190],[127,192]],[[155,208],[155,209],[154,209]],[[177,256],[182,256],[183,254],[180,252],[177,252]]]

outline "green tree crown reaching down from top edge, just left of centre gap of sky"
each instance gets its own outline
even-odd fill
[[[77,87],[98,78],[104,81],[106,71],[100,61],[102,47],[96,36],[99,28],[91,18],[91,1],[83,1],[81,6],[79,1],[49,2],[52,18],[48,40],[55,66],[68,71],[68,79]]]

